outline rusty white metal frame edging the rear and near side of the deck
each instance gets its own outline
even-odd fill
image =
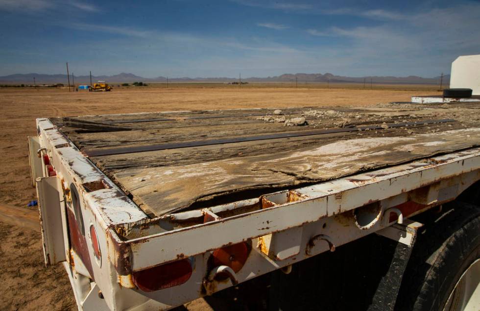
[[[72,286],[79,297],[77,301],[85,299],[93,288],[99,288],[111,310],[166,310],[178,306],[380,231],[396,222],[384,220],[389,217],[384,214],[389,208],[412,202],[413,212],[403,215],[407,219],[455,199],[480,180],[480,148],[474,148],[256,199],[150,219],[48,119],[37,119],[37,126],[40,144],[50,156],[62,185],[58,189],[60,195],[63,192],[68,201],[67,188],[74,184],[81,197],[84,223],[95,225],[98,233],[102,258],[101,264],[91,258],[95,282],[84,281],[86,276],[75,271],[70,256],[64,263],[67,270],[72,269],[71,280],[76,280]],[[380,216],[375,215],[378,221],[359,229],[354,211],[361,213],[375,202],[380,207]],[[249,209],[252,206],[259,208]],[[221,217],[226,212],[230,216]],[[205,215],[210,216],[210,221],[204,223]],[[187,225],[198,219],[201,221]],[[268,244],[264,243],[266,236]],[[252,250],[243,268],[232,275],[233,283],[210,278],[211,252],[240,241],[251,243]],[[65,243],[68,248],[68,241]],[[88,255],[93,256],[92,249],[89,251]],[[185,284],[145,293],[131,282],[134,271],[182,258],[190,258],[194,264],[192,276]]]

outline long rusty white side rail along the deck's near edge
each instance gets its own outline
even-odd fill
[[[120,239],[113,229],[110,229],[110,233],[119,249],[128,248],[129,252],[132,252],[130,262],[125,263],[126,265],[131,264],[131,266],[119,265],[119,270],[142,270],[152,266],[151,257],[145,256],[145,253],[151,249],[163,249],[163,252],[155,256],[155,260],[169,262],[214,250],[230,243],[238,243],[316,222],[325,217],[335,216],[368,205],[374,201],[395,197],[479,169],[480,149],[472,149],[435,157],[430,161],[415,161],[375,172],[299,188],[295,191],[304,195],[301,200],[294,202],[285,200],[285,203],[275,204],[270,208],[218,219],[205,224],[129,240]],[[477,172],[476,176],[478,175],[480,179],[479,174]],[[457,192],[454,193],[455,195],[442,200],[442,202],[455,199],[460,193]],[[288,193],[289,190],[284,190],[265,195],[264,198],[275,202],[276,198],[287,198]],[[422,204],[430,206],[433,203],[441,204],[442,202],[422,202]],[[232,205],[241,204],[240,201],[224,207],[228,208]],[[393,206],[384,205],[383,208]],[[215,207],[212,207],[212,209],[215,209]],[[182,215],[182,213],[166,215],[159,220],[176,218],[178,215]],[[191,218],[195,217],[193,212]],[[388,222],[387,225],[389,225]],[[381,224],[377,224],[376,227],[380,228]],[[229,234],[218,234],[224,228],[228,228]],[[210,238],[203,240],[202,243],[195,242],[195,237],[202,235]]]

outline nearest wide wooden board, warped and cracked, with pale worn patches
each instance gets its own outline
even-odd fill
[[[238,191],[295,187],[476,147],[480,129],[339,140],[322,146],[113,174],[145,212],[161,216]]]

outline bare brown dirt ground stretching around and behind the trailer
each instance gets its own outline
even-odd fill
[[[402,90],[404,88],[404,90]],[[417,89],[417,91],[415,91]],[[201,85],[172,88],[120,88],[113,92],[66,89],[0,89],[0,204],[26,207],[36,199],[30,182],[26,137],[35,135],[35,118],[106,113],[288,106],[359,106],[407,102],[412,95],[439,94],[434,87],[225,88]],[[70,283],[61,265],[43,266],[40,233],[0,222],[0,310],[75,310]],[[198,299],[187,310],[219,310],[222,304]],[[226,310],[226,309],[224,309]]]

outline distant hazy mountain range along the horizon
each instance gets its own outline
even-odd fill
[[[24,83],[33,84],[33,78],[37,85],[50,84],[50,83],[64,83],[67,84],[67,75],[46,75],[46,74],[15,74],[9,76],[0,77],[1,83]],[[267,77],[267,78],[242,78],[245,82],[294,82],[295,78],[299,83],[304,82],[349,82],[349,83],[391,83],[391,84],[438,84],[440,77],[435,78],[422,78],[417,76],[408,77],[343,77],[336,76],[330,73],[326,74],[284,74],[281,76]],[[90,76],[75,76],[75,84],[89,84]],[[132,83],[135,81],[142,82],[166,82],[166,77],[157,78],[143,78],[134,74],[121,73],[113,76],[92,76],[92,81],[105,80],[109,83]],[[234,82],[238,81],[238,78],[169,78],[171,82]],[[443,76],[443,81],[448,83],[450,81],[450,75]],[[72,77],[70,78],[72,83]]]

